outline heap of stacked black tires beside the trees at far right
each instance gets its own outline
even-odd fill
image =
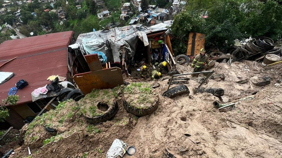
[[[229,49],[229,53],[232,54],[238,61],[252,60],[258,56],[266,54],[276,54],[282,56],[280,48],[274,48],[274,41],[268,37],[257,37],[252,41],[249,41],[242,48]]]

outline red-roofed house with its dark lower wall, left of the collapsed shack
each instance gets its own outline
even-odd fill
[[[67,48],[73,42],[73,31],[68,31],[9,40],[0,44],[0,65],[6,63],[1,67],[0,73],[14,73],[13,77],[0,84],[0,100],[8,97],[10,89],[19,80],[28,82],[26,87],[16,91],[16,95],[19,95],[16,105],[4,105],[9,110],[9,117],[1,124],[20,129],[27,117],[36,116],[44,108],[51,99],[32,102],[31,92],[50,84],[47,78],[51,75],[69,78]]]

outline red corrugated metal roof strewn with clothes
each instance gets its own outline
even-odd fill
[[[5,65],[0,71],[12,72],[12,77],[0,85],[0,100],[8,96],[11,87],[20,79],[28,82],[28,86],[19,89],[18,104],[31,102],[31,92],[49,84],[47,78],[51,75],[66,77],[68,72],[67,48],[73,31],[33,36],[23,39],[9,40],[0,44],[0,65],[16,59]]]

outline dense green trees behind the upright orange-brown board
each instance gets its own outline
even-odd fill
[[[282,6],[274,0],[190,0],[174,17],[174,36],[187,42],[189,32],[206,35],[206,46],[222,48],[235,39],[266,36],[277,40],[282,32]],[[202,16],[207,15],[207,18]],[[187,44],[172,40],[175,54],[186,54]]]

